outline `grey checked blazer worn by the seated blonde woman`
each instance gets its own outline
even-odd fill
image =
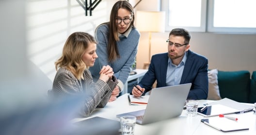
[[[53,81],[52,91],[55,95],[85,94],[86,98],[81,110],[82,116],[89,116],[96,107],[105,107],[117,81],[104,82],[98,80],[93,82],[92,75],[88,69],[83,72],[84,80],[78,80],[69,70],[60,68]]]

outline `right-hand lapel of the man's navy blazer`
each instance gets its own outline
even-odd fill
[[[187,60],[186,60],[186,63],[185,63],[184,69],[183,69],[183,73],[181,76],[180,84],[184,84],[185,80],[189,76],[189,72],[192,67],[193,61],[194,61],[194,58],[193,58],[192,52],[189,50],[188,57],[187,57]]]

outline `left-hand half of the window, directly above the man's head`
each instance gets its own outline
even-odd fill
[[[205,31],[206,0],[162,0],[162,8],[166,12],[165,30],[183,27]]]

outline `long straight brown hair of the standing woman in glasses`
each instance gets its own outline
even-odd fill
[[[119,41],[116,17],[118,14],[118,10],[120,8],[126,9],[130,12],[132,20],[130,22],[129,28],[134,27],[134,12],[131,4],[127,0],[117,1],[112,7],[111,14],[110,14],[110,22],[103,23],[109,26],[109,44],[107,45],[107,51],[108,51],[108,60],[110,62],[120,57],[120,54],[117,49],[117,44],[116,44],[116,42]]]

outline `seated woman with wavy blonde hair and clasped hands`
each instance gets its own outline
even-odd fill
[[[93,82],[88,70],[94,66],[96,40],[84,32],[71,34],[65,42],[62,56],[55,62],[57,70],[52,93],[56,96],[84,94],[82,116],[89,116],[96,107],[104,107],[117,85],[110,66],[102,66],[99,80]]]

